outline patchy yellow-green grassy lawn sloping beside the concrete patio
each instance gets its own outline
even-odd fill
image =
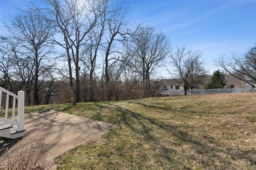
[[[41,107],[26,107],[27,112]],[[256,169],[256,94],[53,105],[116,127],[58,159],[58,169]]]

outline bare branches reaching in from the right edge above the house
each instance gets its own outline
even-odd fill
[[[256,43],[244,55],[238,53],[232,53],[230,57],[222,55],[215,63],[229,74],[255,87],[252,81],[256,82]]]

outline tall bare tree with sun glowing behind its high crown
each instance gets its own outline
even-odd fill
[[[104,8],[104,0],[44,0],[47,8],[37,9],[40,16],[51,23],[57,32],[54,42],[66,51],[70,87],[76,81],[76,102],[80,102],[80,57],[88,33],[96,25]],[[58,38],[57,38],[58,37]],[[73,78],[73,67],[75,78]]]

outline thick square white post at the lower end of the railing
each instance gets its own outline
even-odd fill
[[[18,91],[18,123],[19,127],[17,131],[24,131],[24,112],[25,112],[25,92]]]

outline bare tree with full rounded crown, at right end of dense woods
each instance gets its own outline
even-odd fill
[[[140,76],[146,87],[145,95],[150,94],[150,77],[171,51],[170,41],[161,31],[152,26],[139,27],[132,35],[126,52],[130,55],[127,62],[129,69]]]

